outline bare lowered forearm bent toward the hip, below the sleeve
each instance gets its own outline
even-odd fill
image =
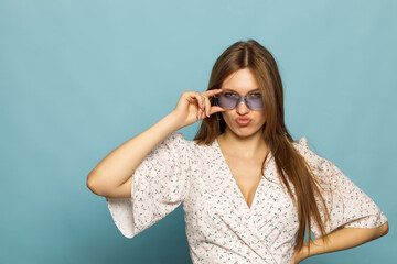
[[[315,239],[310,243],[310,254],[308,253],[308,242],[303,245],[301,252],[294,253],[296,263],[312,256],[324,254],[334,251],[347,250],[368,241],[378,239],[388,233],[388,222],[385,222],[380,227],[366,229],[366,228],[342,228],[330,233],[329,243],[323,243],[322,239]]]

